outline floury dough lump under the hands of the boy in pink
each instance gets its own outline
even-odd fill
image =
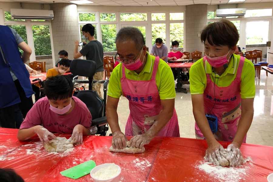
[[[63,152],[67,149],[73,148],[74,141],[75,137],[69,142],[69,139],[66,139],[66,137],[57,136],[51,140],[49,145],[44,144],[44,148],[47,152]]]

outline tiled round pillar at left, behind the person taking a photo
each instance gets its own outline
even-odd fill
[[[50,9],[54,12],[51,21],[55,59],[59,59],[60,50],[68,52],[68,59],[73,60],[74,41],[80,40],[77,5],[71,3],[53,3]]]

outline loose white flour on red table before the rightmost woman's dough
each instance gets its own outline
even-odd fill
[[[251,158],[248,157],[244,162],[251,161]],[[252,163],[244,163],[239,167],[222,167],[211,164],[210,162],[201,161],[199,165],[196,165],[195,168],[206,172],[209,175],[209,180],[221,181],[221,182],[239,182],[245,180],[247,171],[252,166]],[[197,170],[197,174],[199,174]]]

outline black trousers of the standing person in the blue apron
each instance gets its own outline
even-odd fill
[[[20,116],[18,107],[21,111],[21,115],[25,118],[26,114],[33,106],[32,97],[30,96],[27,98],[25,96],[25,91],[19,83],[19,80],[15,80],[14,83],[20,96],[21,103],[0,109],[0,123],[2,128],[19,128],[23,120]]]

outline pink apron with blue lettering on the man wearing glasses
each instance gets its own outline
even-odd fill
[[[146,133],[162,111],[160,96],[156,85],[159,57],[156,57],[152,78],[150,80],[130,80],[125,76],[125,66],[122,64],[121,89],[129,100],[130,115],[128,117],[125,135],[135,136]],[[176,111],[166,126],[157,136],[179,137],[179,126]]]

